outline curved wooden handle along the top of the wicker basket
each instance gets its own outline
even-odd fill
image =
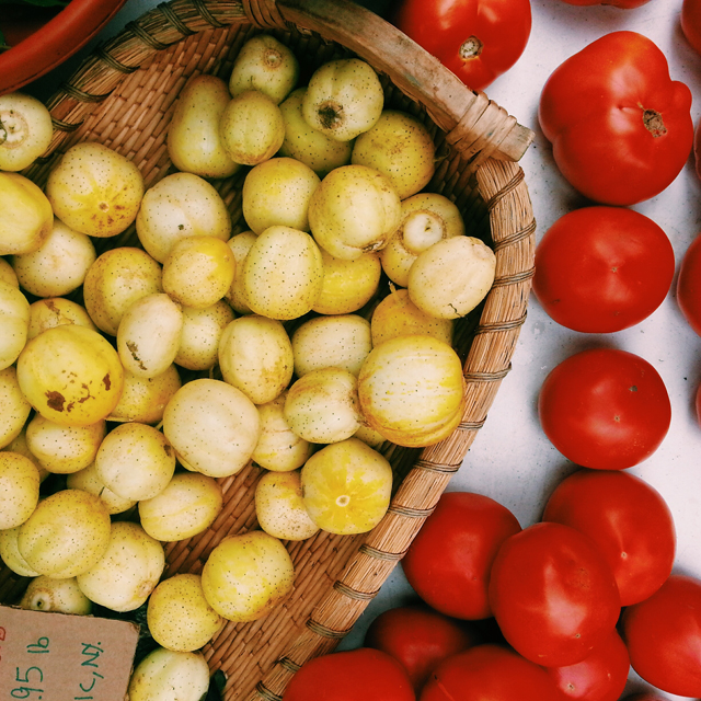
[[[392,76],[413,100],[429,105],[432,119],[468,160],[518,161],[533,133],[482,92],[466,89],[455,73],[374,12],[348,0],[243,0],[251,22],[262,27],[299,23],[343,44]]]

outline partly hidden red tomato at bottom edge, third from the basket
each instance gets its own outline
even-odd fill
[[[547,670],[567,701],[618,701],[630,666],[625,643],[612,630],[582,662]]]

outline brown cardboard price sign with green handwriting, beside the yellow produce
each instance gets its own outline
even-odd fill
[[[139,629],[0,606],[0,701],[124,701]]]

